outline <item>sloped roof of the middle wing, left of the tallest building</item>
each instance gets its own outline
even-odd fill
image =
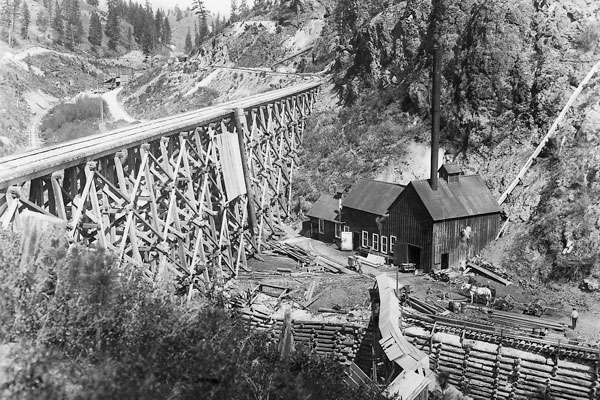
[[[403,190],[404,186],[397,183],[359,179],[342,201],[342,206],[385,215]]]

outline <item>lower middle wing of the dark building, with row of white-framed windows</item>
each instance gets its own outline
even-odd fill
[[[372,253],[392,260],[394,234],[382,234],[382,228],[404,186],[359,179],[342,201],[342,221],[352,232],[355,250]]]

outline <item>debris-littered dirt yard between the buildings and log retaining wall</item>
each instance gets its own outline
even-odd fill
[[[316,240],[301,237],[292,231],[288,231],[286,243],[295,244],[313,255],[326,255],[336,261],[347,265],[348,256],[352,252],[340,251],[334,245],[325,244]],[[338,317],[349,318],[351,322],[368,323],[370,317],[369,289],[374,287],[375,277],[379,274],[388,274],[398,279],[398,286],[410,285],[413,296],[421,299],[437,300],[440,305],[447,306],[449,300],[469,302],[466,296],[461,294],[460,285],[468,277],[459,277],[456,282],[441,282],[429,275],[415,275],[414,273],[397,272],[392,266],[372,268],[363,266],[363,273],[354,271],[351,274],[334,274],[326,271],[307,272],[294,260],[279,255],[263,254],[264,261],[250,260],[249,266],[255,272],[255,279],[242,279],[240,284],[247,288],[255,287],[260,282],[288,287],[292,291],[291,297],[294,302],[292,307],[302,308],[300,305],[305,301],[305,295],[312,282],[316,283],[313,298],[317,300],[308,306],[308,312],[315,318],[329,315],[320,313],[319,308],[340,308],[349,311],[349,314],[338,315]],[[277,268],[289,268],[291,273],[278,273]],[[581,343],[591,345],[600,344],[600,318],[593,304],[597,304],[598,296],[586,294],[579,289],[568,289],[562,286],[555,288],[522,288],[516,284],[504,286],[482,276],[473,277],[480,284],[489,284],[496,289],[496,298],[510,295],[515,301],[512,310],[517,315],[523,315],[527,305],[537,298],[547,302],[547,309],[542,316],[544,319],[560,322],[569,327],[571,324],[571,304],[575,301],[579,310],[577,328],[572,331],[567,329],[566,336],[577,337]],[[443,299],[443,300],[442,300]],[[577,303],[578,302],[578,303]],[[475,305],[483,306],[483,305]],[[477,311],[468,311],[471,316],[477,317]],[[480,314],[481,315],[481,314]],[[359,318],[360,317],[360,318]],[[537,318],[531,316],[530,318]],[[358,321],[357,321],[358,319]]]

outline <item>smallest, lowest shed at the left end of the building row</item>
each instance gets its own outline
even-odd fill
[[[322,242],[333,243],[341,238],[342,223],[340,221],[340,201],[338,196],[322,194],[308,210],[310,218],[308,229],[303,229],[305,235]]]

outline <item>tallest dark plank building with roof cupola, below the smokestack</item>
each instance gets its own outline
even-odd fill
[[[426,272],[464,266],[496,238],[501,209],[479,175],[444,164],[437,189],[412,181],[390,208],[382,235],[397,239],[394,263],[415,263]]]

